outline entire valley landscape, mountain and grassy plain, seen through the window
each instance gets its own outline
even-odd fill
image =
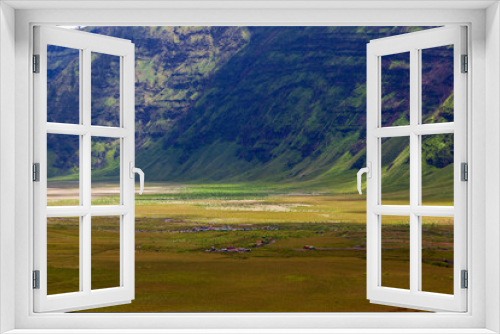
[[[91,312],[408,311],[366,299],[366,201],[355,174],[366,164],[366,43],[420,29],[84,28],[135,43],[136,165],[164,182],[136,197],[136,299]],[[78,61],[57,47],[50,55],[48,120],[78,123]],[[453,86],[443,83],[453,80],[441,66],[450,50],[429,55],[422,119],[451,121]],[[116,68],[93,57],[99,71]],[[408,124],[408,61],[387,68],[382,123]],[[116,77],[94,82],[93,121],[112,125]],[[384,141],[383,204],[407,204],[405,140]],[[47,142],[48,205],[75,205],[78,138]],[[117,203],[118,142],[92,141],[92,204]],[[422,147],[424,204],[452,205],[452,137],[428,136]],[[118,284],[110,219],[92,217],[95,287]],[[48,224],[49,291],[75,291],[78,222]],[[394,216],[384,226],[384,284],[409,284],[407,228]],[[451,293],[453,224],[436,218],[422,231],[423,287]]]

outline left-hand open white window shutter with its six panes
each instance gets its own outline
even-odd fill
[[[52,48],[52,49],[51,49]],[[63,108],[68,108],[68,113],[75,113],[76,121],[72,124],[64,121],[48,119],[48,79],[59,80],[50,73],[47,57],[48,50],[61,51],[61,55],[67,50],[75,52],[74,67],[68,66],[65,71],[71,71],[76,79],[76,89],[79,94],[77,105],[65,104],[64,90],[68,89],[67,83],[61,80],[58,89],[58,103]],[[52,51],[51,51],[52,52]],[[134,44],[128,40],[100,36],[71,29],[55,27],[34,28],[34,57],[33,57],[33,90],[34,90],[34,311],[35,312],[66,312],[73,310],[91,309],[96,307],[130,303],[134,299]],[[109,104],[119,105],[117,107],[116,123],[95,123],[92,105],[92,83],[94,78],[93,59],[97,55],[114,57],[115,70],[118,73],[116,80],[115,96],[110,96]],[[53,55],[53,53],[49,54]],[[51,56],[52,57],[52,56]],[[55,56],[57,58],[57,55]],[[61,57],[62,59],[63,57]],[[53,59],[52,59],[53,60]],[[58,59],[55,60],[59,61]],[[62,60],[61,60],[62,61]],[[53,64],[53,62],[52,62]],[[97,75],[105,75],[105,69],[96,71]],[[49,74],[49,75],[48,75]],[[64,73],[63,73],[64,74]],[[66,73],[68,74],[68,73]],[[70,75],[70,74],[68,74]],[[97,81],[97,80],[96,80]],[[118,102],[117,102],[118,101]],[[78,105],[79,104],[79,105]],[[50,110],[49,110],[50,112]],[[108,126],[109,125],[109,126]],[[79,183],[76,182],[79,199],[76,203],[68,206],[47,205],[47,175],[48,175],[48,152],[47,138],[59,138],[58,144],[65,144],[64,138],[74,138],[76,144],[75,154],[79,167],[76,169]],[[115,164],[119,161],[120,166],[115,168],[115,174],[119,174],[119,199],[113,205],[94,205],[92,203],[92,177],[93,162],[92,150],[96,138],[114,141],[119,147],[119,153],[115,153]],[[118,149],[116,150],[118,152]],[[52,154],[49,152],[49,154]],[[53,159],[52,159],[53,160]],[[116,176],[118,178],[118,176]],[[78,196],[78,195],[77,195]],[[93,222],[106,220],[114,217],[115,228],[110,232],[108,227],[101,228],[104,231],[100,238],[105,238],[108,233],[118,236],[119,245],[110,252],[118,258],[115,266],[119,271],[119,278],[114,284],[105,286],[98,284],[99,276],[92,272],[92,263],[98,254],[98,249],[93,249]],[[74,221],[76,234],[78,236],[76,250],[69,254],[68,258],[77,262],[77,268],[64,268],[58,272],[47,274],[51,264],[48,265],[48,253],[57,251],[58,242],[53,241],[53,235],[48,229],[53,221]],[[109,219],[108,219],[109,220]],[[51,222],[50,224],[48,222]],[[56,224],[57,225],[57,224]],[[99,229],[97,229],[99,230]],[[48,242],[50,238],[50,242]],[[64,239],[66,238],[66,239]],[[64,243],[69,237],[61,239]],[[116,243],[118,244],[118,243]],[[62,250],[64,252],[65,250]],[[118,254],[118,255],[116,255]],[[118,264],[119,263],[119,264]],[[52,270],[52,269],[51,269]],[[64,280],[68,273],[76,273],[73,279],[73,287],[58,290],[51,285],[55,280]],[[63,291],[63,293],[61,293]]]

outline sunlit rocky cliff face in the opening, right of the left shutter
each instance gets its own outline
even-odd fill
[[[136,46],[137,148],[163,137],[249,40],[239,27],[99,27]],[[102,97],[106,92],[102,92]]]

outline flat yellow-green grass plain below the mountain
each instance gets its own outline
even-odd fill
[[[383,285],[408,288],[407,219],[383,217],[382,223]],[[409,311],[366,299],[365,224],[360,195],[296,186],[151,184],[136,196],[136,298],[91,312]],[[77,291],[78,219],[51,218],[48,226],[49,293]],[[423,288],[453,293],[453,221],[426,218],[422,229]],[[92,218],[95,289],[119,284],[118,237],[116,217]],[[208,252],[211,247],[251,251]]]

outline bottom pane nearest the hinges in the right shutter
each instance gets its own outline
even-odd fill
[[[453,218],[421,217],[422,291],[453,294]]]

